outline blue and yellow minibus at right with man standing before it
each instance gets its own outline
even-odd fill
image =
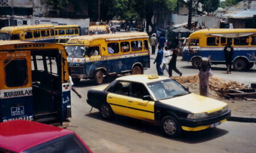
[[[189,36],[183,49],[183,60],[197,67],[201,57],[210,57],[213,64],[225,64],[224,47],[232,42],[233,68],[251,69],[256,62],[256,29],[201,29]]]

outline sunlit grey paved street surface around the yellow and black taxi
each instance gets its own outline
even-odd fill
[[[184,75],[198,73],[196,69],[192,69],[191,63],[179,60],[177,65]],[[254,66],[251,71],[228,75],[225,74],[224,66],[213,66],[215,76],[237,78],[237,81],[246,80],[247,83],[255,79],[255,71]],[[145,73],[156,73],[153,59],[151,68]],[[177,74],[174,73],[174,76]],[[104,83],[110,83],[113,79],[108,78]],[[170,139],[163,137],[154,125],[147,122],[122,116],[117,116],[112,121],[102,120],[97,109],[93,108],[89,113],[91,107],[86,103],[86,93],[92,87],[95,87],[93,80],[82,80],[76,86],[82,99],[72,92],[72,126],[68,129],[79,134],[94,152],[255,152],[254,123],[228,121],[218,128],[185,132],[179,139]]]

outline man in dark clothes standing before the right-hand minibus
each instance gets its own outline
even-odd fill
[[[234,54],[234,48],[231,46],[232,42],[228,42],[228,45],[224,48],[224,55],[226,60],[226,73],[231,73],[231,66],[232,66],[232,56]]]

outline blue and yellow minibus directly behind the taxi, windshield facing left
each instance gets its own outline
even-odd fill
[[[148,35],[144,32],[72,37],[65,49],[75,83],[94,79],[101,84],[104,76],[143,74],[150,67]]]

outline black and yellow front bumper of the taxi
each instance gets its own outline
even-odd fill
[[[218,114],[217,116],[212,116],[208,118],[203,119],[197,119],[197,120],[191,120],[188,118],[179,118],[180,125],[187,128],[193,128],[193,129],[207,129],[210,127],[210,125],[216,123],[216,122],[223,122],[227,118],[229,118],[231,115],[231,111],[228,110],[224,113]],[[201,127],[201,128],[199,128]]]

